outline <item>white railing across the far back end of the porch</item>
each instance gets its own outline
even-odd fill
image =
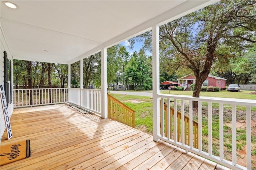
[[[14,89],[14,108],[68,101],[68,88]]]

